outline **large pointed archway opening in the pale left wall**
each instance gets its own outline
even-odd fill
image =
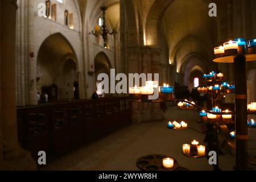
[[[61,34],[44,40],[38,53],[37,90],[48,100],[79,99],[79,75],[76,54]]]

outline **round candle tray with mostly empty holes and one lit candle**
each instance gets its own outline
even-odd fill
[[[174,159],[174,167],[167,169],[163,167],[163,159],[172,158],[171,156],[162,154],[145,155],[139,158],[136,162],[136,166],[142,171],[175,171],[178,167],[178,162]]]

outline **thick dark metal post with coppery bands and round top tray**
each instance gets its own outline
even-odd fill
[[[234,63],[235,75],[235,110],[236,110],[236,169],[247,170],[247,80],[246,61],[255,61],[256,54],[246,53],[238,47],[237,55],[221,56],[213,61],[216,63]]]

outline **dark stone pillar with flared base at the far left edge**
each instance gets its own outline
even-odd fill
[[[8,17],[8,18],[6,18]],[[3,26],[4,25],[4,26]],[[35,169],[36,165],[30,154],[19,147],[16,125],[15,101],[15,31],[16,3],[11,0],[1,1],[1,55],[0,90],[2,131],[0,170]]]

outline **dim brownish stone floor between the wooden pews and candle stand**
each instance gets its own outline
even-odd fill
[[[201,131],[201,124],[197,123],[199,117],[195,110],[181,111],[176,107],[169,108],[165,113],[166,121],[138,123],[119,130],[97,142],[61,156],[42,170],[99,170],[120,171],[138,168],[136,160],[148,154],[165,154],[176,158],[185,168],[191,170],[212,170],[208,160],[191,159],[181,154],[182,144],[191,142],[192,139],[203,143],[205,135],[195,130],[168,130],[166,124],[169,119],[187,121],[189,126]],[[221,136],[220,142],[222,142]],[[234,155],[226,147],[225,155],[220,156],[220,168],[232,170]]]

